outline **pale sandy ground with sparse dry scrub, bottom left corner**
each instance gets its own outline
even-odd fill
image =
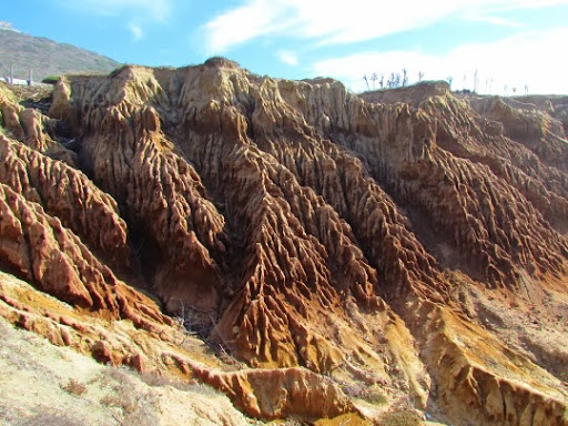
[[[229,398],[98,364],[0,317],[0,425],[250,425]]]

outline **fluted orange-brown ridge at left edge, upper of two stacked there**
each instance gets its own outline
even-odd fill
[[[129,262],[126,225],[116,202],[83,173],[0,135],[0,181],[61,220],[116,267]]]

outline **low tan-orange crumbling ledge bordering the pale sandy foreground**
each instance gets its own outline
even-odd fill
[[[108,327],[105,320],[80,315],[71,306],[3,272],[0,291],[0,315],[10,323],[101,363],[128,365],[159,383],[168,383],[168,376],[160,381],[160,375],[173,369],[178,379],[199,379],[224,392],[248,416],[293,415],[313,420],[351,413],[359,418],[356,407],[335,383],[307,369],[224,372],[223,365],[211,356],[206,364],[189,357],[183,347],[193,347],[192,355],[200,358],[206,357],[207,347],[175,327],[156,325],[153,333],[141,333],[126,322]]]

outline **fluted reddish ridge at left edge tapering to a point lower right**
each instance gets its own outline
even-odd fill
[[[2,263],[40,290],[78,307],[152,329],[172,324],[149,300],[121,283],[112,271],[38,203],[0,184]]]

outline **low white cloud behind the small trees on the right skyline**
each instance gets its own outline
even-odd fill
[[[568,93],[566,60],[560,52],[568,40],[568,27],[539,32],[525,32],[490,43],[471,43],[457,47],[446,54],[427,54],[422,51],[388,51],[353,54],[328,59],[314,64],[316,75],[333,77],[344,81],[352,90],[366,90],[363,74],[385,74],[408,69],[409,81],[415,82],[419,71],[426,80],[454,78],[454,89],[503,94],[505,85],[511,94]],[[372,83],[371,83],[372,84]]]

